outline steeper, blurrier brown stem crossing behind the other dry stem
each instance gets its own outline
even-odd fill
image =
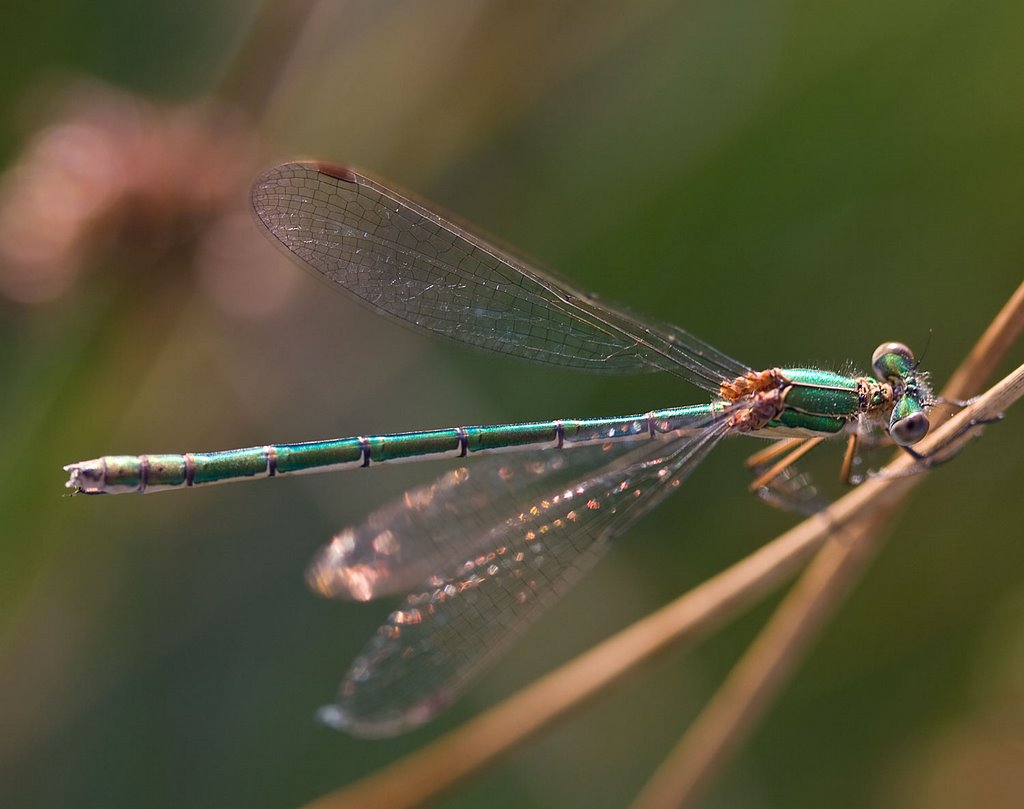
[[[985,379],[1024,325],[1024,285],[982,335],[950,379],[944,395],[970,395]],[[1024,394],[1024,366],[957,414],[923,446],[944,436],[968,440],[973,421],[996,418]],[[897,462],[899,459],[897,460]],[[895,466],[895,464],[891,465]],[[891,469],[890,467],[890,469]],[[923,478],[903,478],[900,498]],[[708,704],[693,726],[637,797],[634,809],[692,805],[730,755],[743,742],[799,664],[802,653],[833,610],[850,592],[882,544],[899,503],[865,512],[844,531],[848,542],[830,543],[814,559],[746,653]]]

